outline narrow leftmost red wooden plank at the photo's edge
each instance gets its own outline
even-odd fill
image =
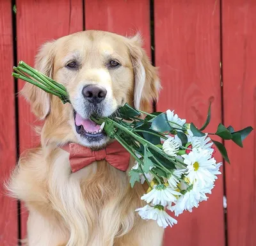
[[[15,94],[12,78],[12,1],[0,2],[0,245],[17,245],[17,201],[5,196],[3,182],[16,163]]]

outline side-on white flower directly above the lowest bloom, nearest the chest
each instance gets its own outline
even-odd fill
[[[154,205],[160,204],[166,206],[169,203],[177,200],[177,196],[180,192],[173,190],[165,185],[154,185],[153,189],[147,194],[141,197],[141,200],[147,201],[147,203],[152,203]]]

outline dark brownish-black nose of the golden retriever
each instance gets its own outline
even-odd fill
[[[107,90],[102,87],[89,84],[88,86],[84,86],[82,93],[84,98],[92,104],[99,104],[105,99]]]

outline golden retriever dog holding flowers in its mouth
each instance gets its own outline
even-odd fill
[[[92,149],[108,145],[92,114],[109,116],[125,102],[151,110],[160,85],[140,36],[74,33],[45,43],[35,67],[67,88],[71,104],[31,84],[21,92],[44,120],[40,147],[21,155],[8,185],[29,210],[28,245],[161,245],[163,228],[134,211],[145,205],[140,197],[147,187],[137,182],[131,188],[132,158],[126,172],[99,160],[72,173],[69,153],[61,148],[69,142]]]

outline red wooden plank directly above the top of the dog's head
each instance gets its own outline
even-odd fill
[[[140,32],[150,56],[149,0],[85,0],[85,29],[110,31],[124,36]]]

